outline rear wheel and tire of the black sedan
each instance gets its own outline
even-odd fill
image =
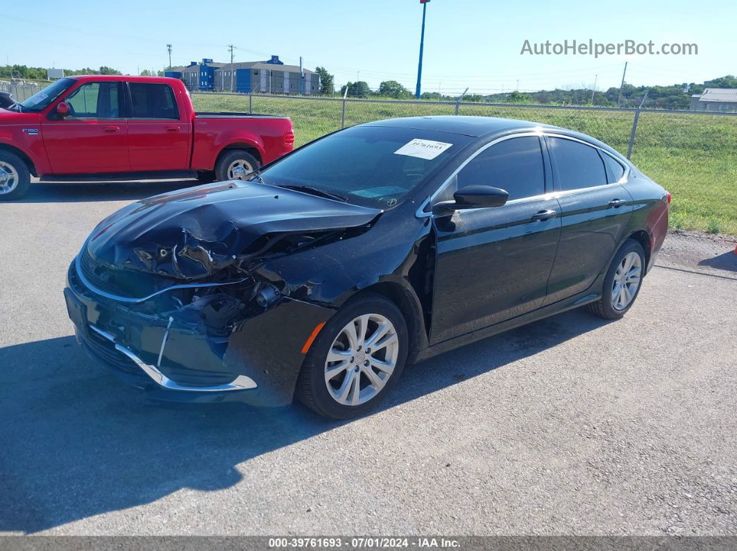
[[[645,273],[645,252],[642,245],[628,239],[612,260],[601,299],[586,305],[594,316],[604,319],[620,319],[638,298]]]

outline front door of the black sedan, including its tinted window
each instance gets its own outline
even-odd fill
[[[433,217],[437,260],[431,344],[539,308],[560,237],[560,207],[545,196],[540,138],[500,141],[474,157],[436,200],[467,185],[509,192],[502,207]],[[548,169],[549,172],[549,169]]]

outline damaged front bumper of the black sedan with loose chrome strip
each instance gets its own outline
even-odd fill
[[[240,321],[228,336],[208,334],[192,312],[167,318],[95,293],[69,268],[64,290],[85,352],[150,397],[254,405],[291,402],[301,346],[333,310],[284,297]]]

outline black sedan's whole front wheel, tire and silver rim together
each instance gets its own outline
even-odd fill
[[[373,410],[397,385],[408,351],[407,323],[393,302],[363,294],[322,328],[297,380],[300,402],[330,419]]]

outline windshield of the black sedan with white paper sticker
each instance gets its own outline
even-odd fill
[[[411,128],[352,127],[310,143],[266,168],[262,177],[269,185],[313,188],[385,209],[399,205],[471,139]]]

